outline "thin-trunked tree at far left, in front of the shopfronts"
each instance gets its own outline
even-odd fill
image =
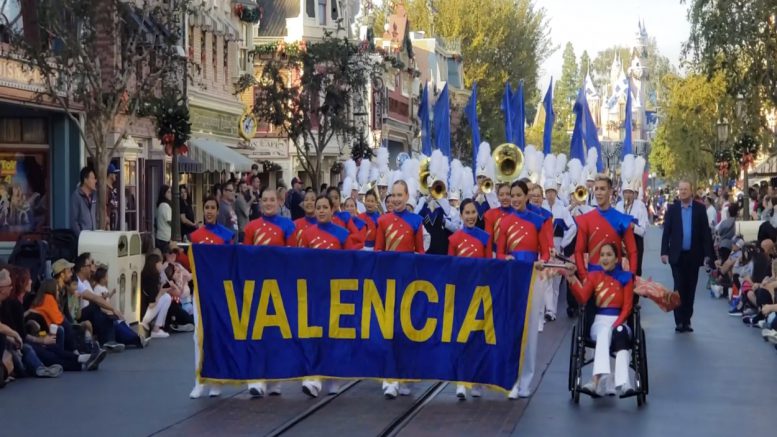
[[[181,81],[185,60],[178,45],[190,11],[188,0],[22,2],[20,16],[9,19],[16,24],[4,29],[11,55],[42,78],[37,99],[62,108],[86,144],[97,174],[101,228],[113,153],[128,130],[149,115],[148,104],[163,82]],[[21,26],[25,14],[35,20]]]

